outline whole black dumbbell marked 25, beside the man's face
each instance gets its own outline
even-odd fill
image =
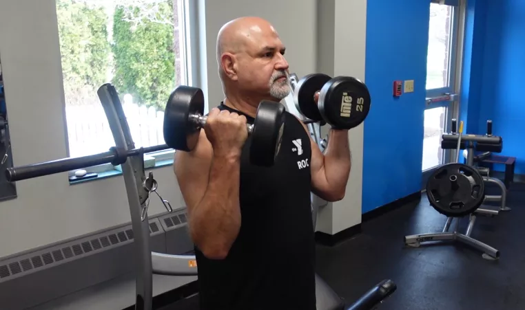
[[[371,97],[367,86],[357,78],[309,74],[297,83],[294,102],[310,120],[325,121],[334,129],[352,129],[367,118]]]

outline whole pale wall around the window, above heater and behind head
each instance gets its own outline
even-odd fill
[[[216,34],[238,16],[262,16],[287,45],[291,71],[316,71],[316,0],[200,0],[205,4],[207,82],[211,106],[223,99]],[[202,14],[203,13],[203,14]],[[294,17],[292,17],[294,16]],[[66,156],[65,111],[54,0],[0,0],[0,57],[15,166]],[[203,68],[204,69],[204,68]],[[198,85],[201,86],[201,85]],[[203,87],[204,88],[204,87]],[[154,170],[163,198],[183,200],[172,167]],[[17,182],[18,198],[0,203],[0,257],[130,221],[122,177],[70,186],[66,173]],[[156,200],[150,215],[164,212]]]

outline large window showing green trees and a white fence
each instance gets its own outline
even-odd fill
[[[186,8],[187,0],[56,0],[70,157],[114,146],[96,94],[106,82],[136,147],[165,143],[169,93],[191,85]]]

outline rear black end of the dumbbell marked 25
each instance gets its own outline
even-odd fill
[[[326,74],[309,74],[299,80],[294,91],[294,102],[299,113],[316,122],[322,120],[314,96],[330,79]]]

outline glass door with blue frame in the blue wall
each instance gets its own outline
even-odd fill
[[[426,100],[422,154],[423,188],[433,170],[450,162],[441,148],[442,133],[450,131],[458,111],[462,60],[464,5],[431,3],[426,63]],[[445,1],[447,3],[447,1]]]

